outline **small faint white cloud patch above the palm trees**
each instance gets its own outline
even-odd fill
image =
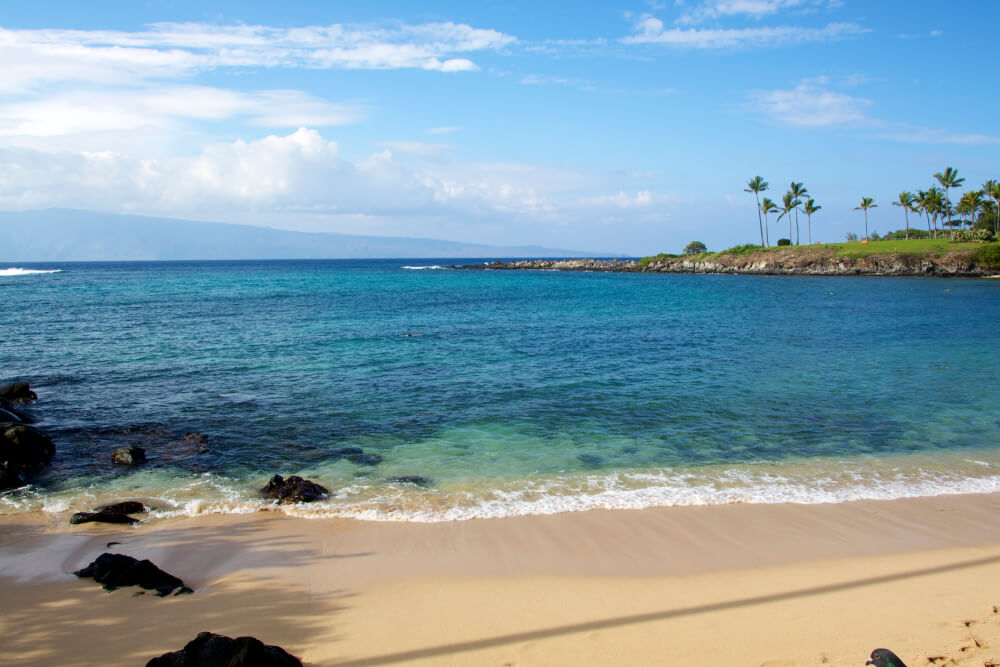
[[[827,81],[825,77],[817,77],[805,79],[792,89],[756,92],[751,95],[751,107],[793,127],[832,127],[871,122],[865,115],[871,100],[824,88]]]

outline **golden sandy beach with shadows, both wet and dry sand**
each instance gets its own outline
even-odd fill
[[[0,663],[143,665],[202,630],[312,665],[1000,663],[1000,494],[446,524],[0,518]],[[102,591],[150,558],[196,589]],[[950,662],[949,662],[950,661]]]

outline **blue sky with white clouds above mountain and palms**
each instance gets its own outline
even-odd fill
[[[0,210],[641,256],[1000,179],[997,0],[0,5]]]

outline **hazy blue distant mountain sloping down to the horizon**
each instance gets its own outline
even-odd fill
[[[607,256],[540,246],[290,232],[73,209],[0,212],[0,262]]]

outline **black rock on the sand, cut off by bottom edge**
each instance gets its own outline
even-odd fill
[[[302,662],[280,646],[268,646],[255,637],[232,639],[200,632],[180,651],[153,658],[146,667],[302,667]]]

